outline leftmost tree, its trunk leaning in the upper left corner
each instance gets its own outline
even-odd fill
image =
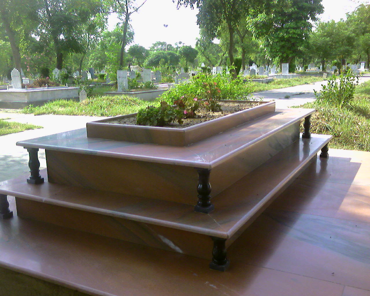
[[[0,38],[9,42],[14,67],[21,72],[20,41],[36,28],[38,3],[30,0],[0,0]]]

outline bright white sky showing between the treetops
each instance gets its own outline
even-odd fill
[[[140,0],[137,3],[142,3]],[[346,13],[353,11],[360,3],[370,0],[322,0],[324,13],[322,21],[345,19]],[[149,48],[156,41],[165,41],[172,45],[182,41],[185,45],[195,46],[199,37],[196,25],[197,10],[189,7],[176,9],[172,0],[147,0],[138,13],[131,15],[131,26],[134,29],[134,43]],[[118,19],[114,15],[108,20],[108,27],[114,28]],[[167,24],[168,27],[163,25]]]

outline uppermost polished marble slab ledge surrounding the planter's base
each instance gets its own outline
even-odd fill
[[[186,147],[87,138],[85,128],[20,141],[17,145],[27,148],[213,168],[227,159],[230,154],[255,144],[312,112],[314,112],[313,109],[279,110]]]

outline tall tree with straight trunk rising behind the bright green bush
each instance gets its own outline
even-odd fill
[[[175,1],[175,0],[174,0]],[[199,9],[197,24],[210,40],[218,37],[219,27],[225,22],[229,34],[228,54],[230,64],[234,65],[235,28],[239,21],[249,13],[250,10],[265,10],[270,2],[276,0],[177,0],[178,6],[196,5]],[[277,0],[280,1],[280,0]],[[237,73],[231,69],[233,77]]]

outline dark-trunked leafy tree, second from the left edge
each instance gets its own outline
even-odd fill
[[[63,67],[65,54],[84,52],[78,28],[101,8],[100,0],[43,0],[37,36],[45,45],[53,44],[58,69]]]

